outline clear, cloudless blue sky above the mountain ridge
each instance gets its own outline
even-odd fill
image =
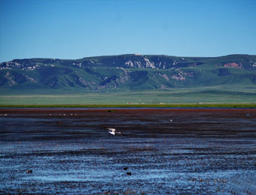
[[[0,62],[256,54],[256,0],[0,0]]]

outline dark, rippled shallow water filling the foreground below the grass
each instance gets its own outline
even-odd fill
[[[2,109],[0,194],[256,194],[256,110]]]

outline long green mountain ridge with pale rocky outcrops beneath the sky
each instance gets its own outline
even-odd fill
[[[256,87],[256,55],[214,58],[109,55],[76,60],[26,58],[2,62],[0,89],[173,89],[200,86]]]

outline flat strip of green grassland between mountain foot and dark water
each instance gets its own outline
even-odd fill
[[[254,86],[212,86],[190,89],[157,89],[133,91],[100,91],[87,93],[47,94],[46,91],[24,92],[22,95],[0,95],[0,107],[174,107],[175,104],[251,104],[256,106]],[[148,105],[147,105],[148,104]],[[170,106],[168,106],[170,105]],[[208,106],[207,106],[208,107]],[[223,106],[224,107],[224,106]],[[251,107],[251,106],[250,106]]]

